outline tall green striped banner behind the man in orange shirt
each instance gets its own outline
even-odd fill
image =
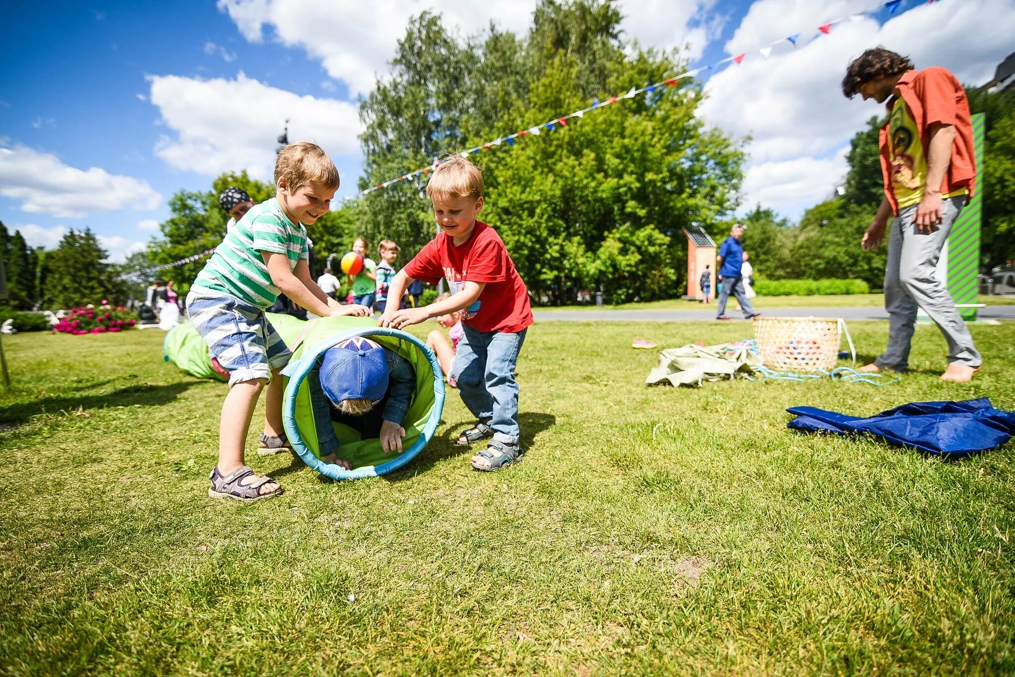
[[[976,178],[984,176],[984,120],[983,113],[972,116],[972,142],[976,151]],[[975,303],[979,289],[979,219],[983,213],[983,182],[977,182],[972,196],[948,233],[948,292],[956,306]],[[976,309],[960,308],[959,315],[966,322],[976,319]]]

